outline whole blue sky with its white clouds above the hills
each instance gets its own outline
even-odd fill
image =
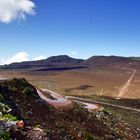
[[[0,0],[0,50],[0,64],[140,56],[140,0]]]

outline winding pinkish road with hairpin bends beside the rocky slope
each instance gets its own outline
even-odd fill
[[[140,112],[140,109],[136,109],[136,108],[115,105],[115,104],[105,103],[105,102],[101,102],[101,101],[83,99],[83,98],[74,97],[74,96],[65,96],[64,97],[64,96],[59,95],[48,89],[43,89],[43,91],[47,91],[47,93],[50,94],[52,97],[54,97],[56,100],[51,100],[51,99],[47,98],[40,90],[37,90],[40,98],[45,100],[47,103],[49,103],[50,105],[52,105],[56,108],[69,106],[72,103],[71,100],[74,100],[74,101],[78,101],[78,102],[81,102],[82,104],[84,104],[85,108],[87,108],[89,111],[99,110],[100,109],[99,105],[106,105],[106,106],[117,107],[120,109]]]

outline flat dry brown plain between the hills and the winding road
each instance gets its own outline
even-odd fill
[[[119,69],[86,69],[60,72],[1,71],[8,77],[25,77],[40,88],[65,95],[99,95],[116,97],[131,71]],[[136,74],[126,98],[140,98],[140,71]]]

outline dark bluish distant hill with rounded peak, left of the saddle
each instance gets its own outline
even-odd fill
[[[52,56],[47,59],[38,61],[26,61],[21,63],[12,63],[10,65],[2,66],[7,69],[24,69],[24,68],[46,68],[46,67],[65,67],[74,66],[81,63],[82,59],[71,58],[67,55]]]

